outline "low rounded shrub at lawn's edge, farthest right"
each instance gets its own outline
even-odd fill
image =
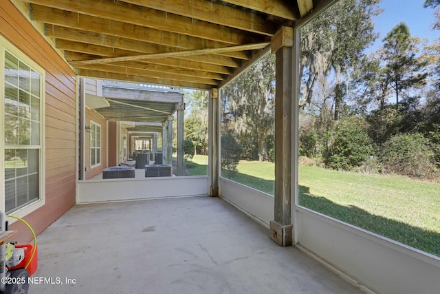
[[[380,152],[387,172],[416,178],[435,176],[434,151],[421,134],[398,134],[387,140]]]

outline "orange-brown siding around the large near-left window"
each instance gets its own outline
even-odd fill
[[[46,204],[25,217],[41,233],[75,204],[76,74],[8,0],[0,5],[0,34],[46,71]],[[32,235],[19,222],[14,240]]]

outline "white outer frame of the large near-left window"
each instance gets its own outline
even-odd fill
[[[43,67],[35,63],[30,57],[21,52],[14,45],[9,43],[8,40],[4,39],[3,36],[0,36],[0,95],[1,95],[1,103],[0,103],[0,209],[1,211],[5,211],[5,149],[14,148],[18,145],[5,145],[5,126],[4,126],[4,117],[5,117],[5,51],[8,51],[10,54],[14,55],[19,61],[25,63],[29,67],[40,74],[40,144],[32,145],[31,149],[39,149],[39,199],[34,200],[26,204],[23,207],[20,207],[17,210],[11,212],[14,216],[18,216],[19,218],[23,218],[27,216],[32,211],[39,209],[46,202],[46,193],[45,193],[45,70]],[[29,149],[29,148],[28,148]],[[10,219],[10,223],[15,222],[15,219]]]

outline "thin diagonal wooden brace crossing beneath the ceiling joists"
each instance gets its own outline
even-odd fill
[[[234,52],[234,51],[242,51],[242,50],[259,50],[262,48],[266,48],[270,43],[256,43],[256,44],[247,44],[247,45],[238,45],[238,46],[230,46],[225,48],[206,48],[200,50],[187,50],[181,52],[169,52],[169,53],[157,53],[157,54],[144,54],[138,56],[122,56],[122,57],[110,57],[106,59],[94,59],[88,61],[75,61],[72,62],[72,65],[86,65],[86,64],[96,64],[96,63],[109,63],[109,62],[118,62],[118,61],[140,61],[147,59],[162,59],[162,58],[179,58],[184,56],[192,56],[192,55],[204,55],[204,54],[215,54],[220,52]]]

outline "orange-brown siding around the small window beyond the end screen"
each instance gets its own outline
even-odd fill
[[[86,109],[85,125],[90,126],[90,120],[101,126],[101,164],[93,169],[90,167],[90,133],[85,136],[85,179],[93,178],[99,174],[102,169],[107,167],[107,120],[96,113],[94,110]]]

